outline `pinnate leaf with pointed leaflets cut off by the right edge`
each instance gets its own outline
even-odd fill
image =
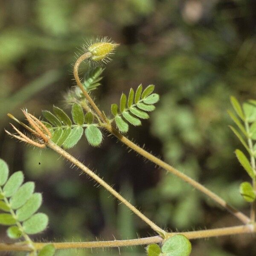
[[[230,125],[233,133],[238,137],[244,148],[250,155],[250,161],[246,155],[239,149],[236,149],[236,157],[241,166],[253,180],[256,179],[255,159],[256,159],[256,101],[249,100],[244,102],[241,106],[238,100],[231,96],[231,104],[234,111],[228,111],[231,119],[235,122],[237,128]],[[244,139],[245,138],[245,139]],[[243,182],[240,185],[240,194],[247,202],[253,202],[256,199],[256,192],[254,191],[251,183]]]

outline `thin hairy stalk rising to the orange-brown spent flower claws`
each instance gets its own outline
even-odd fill
[[[125,198],[123,198],[116,190],[114,190],[111,186],[108,185],[104,180],[102,180],[98,175],[96,175],[94,172],[92,172],[90,169],[88,169],[86,166],[84,166],[79,160],[77,160],[75,157],[67,153],[67,151],[60,148],[58,145],[53,143],[49,140],[47,143],[47,146],[49,148],[52,148],[54,151],[56,151],[61,156],[65,157],[67,160],[69,160],[71,163],[79,167],[82,171],[84,171],[87,175],[92,177],[96,182],[98,182],[101,186],[103,186],[105,189],[107,189],[114,197],[116,197],[119,201],[121,201],[123,204],[125,204],[132,212],[134,212],[137,216],[139,216],[145,223],[147,223],[153,230],[155,230],[157,233],[159,233],[161,236],[165,236],[166,232],[158,227],[156,224],[154,224],[153,221],[148,219],[143,213],[141,213],[136,207],[134,207],[132,204],[130,204]]]

